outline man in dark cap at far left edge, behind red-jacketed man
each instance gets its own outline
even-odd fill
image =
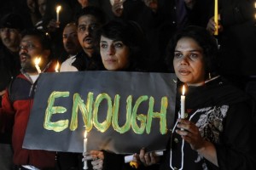
[[[0,105],[5,88],[20,72],[19,45],[23,22],[18,14],[6,14],[0,22]],[[12,166],[11,126],[0,131],[0,167],[9,170]]]

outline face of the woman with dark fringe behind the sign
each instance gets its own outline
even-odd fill
[[[123,42],[102,36],[100,46],[102,63],[108,71],[120,71],[129,66],[130,49]]]

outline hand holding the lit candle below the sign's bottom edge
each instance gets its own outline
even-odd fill
[[[102,170],[103,169],[103,160],[104,154],[99,150],[90,150],[90,152],[84,153],[84,159],[82,161],[91,161],[93,169]]]

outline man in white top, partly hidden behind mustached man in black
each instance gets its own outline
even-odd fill
[[[76,59],[76,55],[81,50],[78,38],[78,27],[75,23],[68,23],[67,26],[65,26],[62,34],[62,40],[68,56],[61,64],[60,71],[78,71],[78,69],[72,65],[73,61]]]

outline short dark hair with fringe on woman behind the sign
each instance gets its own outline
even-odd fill
[[[130,49],[129,69],[139,69],[143,58],[144,33],[143,29],[135,21],[110,20],[100,30],[101,36],[112,40],[121,41]]]

